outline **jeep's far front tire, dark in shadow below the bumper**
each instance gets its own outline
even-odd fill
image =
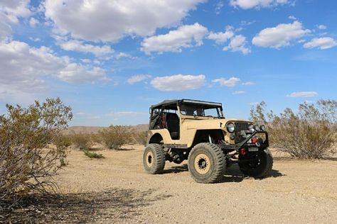
[[[254,157],[253,157],[254,158]],[[264,178],[272,171],[272,153],[268,149],[258,152],[256,160],[250,162],[240,162],[240,159],[247,159],[246,156],[239,156],[239,167],[243,174],[249,177]]]

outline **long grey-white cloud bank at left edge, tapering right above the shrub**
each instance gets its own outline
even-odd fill
[[[8,94],[46,89],[46,77],[70,83],[108,80],[100,67],[77,65],[48,47],[31,47],[20,41],[0,42],[0,68],[0,89]]]

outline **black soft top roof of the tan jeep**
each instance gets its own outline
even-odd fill
[[[203,108],[215,108],[215,107],[223,108],[222,103],[215,103],[215,102],[209,102],[209,101],[198,101],[194,99],[169,99],[169,100],[162,101],[160,103],[156,103],[152,105],[150,108],[156,109],[156,108],[161,108],[162,106],[164,106],[166,109],[176,110],[177,105],[179,103],[199,104],[199,105],[203,105]]]

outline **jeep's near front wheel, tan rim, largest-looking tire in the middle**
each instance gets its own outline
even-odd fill
[[[188,155],[188,171],[198,183],[219,182],[226,170],[223,151],[212,143],[200,143]]]

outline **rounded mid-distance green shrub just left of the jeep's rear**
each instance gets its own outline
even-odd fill
[[[100,130],[100,138],[109,149],[119,150],[122,145],[131,141],[131,130],[127,126],[111,125]]]

